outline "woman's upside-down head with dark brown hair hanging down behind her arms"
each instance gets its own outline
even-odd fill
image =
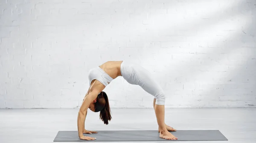
[[[108,96],[107,94],[102,91],[97,96],[95,105],[95,112],[99,112],[99,118],[108,125],[108,121],[111,121],[111,111],[108,103]]]

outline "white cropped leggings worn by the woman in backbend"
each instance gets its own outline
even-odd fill
[[[165,104],[165,95],[160,85],[151,77],[145,68],[123,61],[121,64],[122,77],[129,83],[139,85],[147,93],[154,96],[157,105]]]

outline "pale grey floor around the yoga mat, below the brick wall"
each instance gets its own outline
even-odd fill
[[[109,125],[99,120],[99,113],[89,111],[85,122],[86,129],[157,129],[153,109],[111,111],[113,120]],[[58,131],[77,130],[77,113],[78,109],[0,109],[0,143],[53,143]],[[256,143],[256,108],[166,109],[166,123],[180,130],[218,129],[228,139],[179,143]]]

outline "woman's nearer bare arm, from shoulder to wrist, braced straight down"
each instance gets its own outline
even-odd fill
[[[84,101],[79,109],[78,113],[78,118],[77,118],[77,127],[78,127],[78,133],[79,133],[79,138],[83,139],[83,129],[84,129],[84,121],[87,115],[87,109],[90,105],[90,103],[93,102],[94,99],[97,98],[99,91],[93,90],[91,91],[85,98]]]

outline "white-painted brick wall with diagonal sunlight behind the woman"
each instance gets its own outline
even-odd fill
[[[168,107],[256,107],[255,0],[1,0],[0,108],[76,108],[90,68],[136,61]],[[152,107],[117,78],[111,107]]]

